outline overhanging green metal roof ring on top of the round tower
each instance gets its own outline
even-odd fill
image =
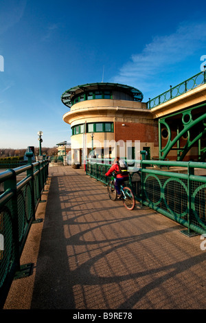
[[[76,87],[71,87],[64,93],[62,93],[61,100],[62,103],[67,107],[71,107],[71,100],[74,96],[78,96],[80,93],[85,93],[88,91],[119,91],[124,92],[131,96],[134,101],[139,101],[143,99],[143,93],[135,87],[130,87],[129,85],[122,85],[119,83],[87,83],[84,85],[78,85]]]

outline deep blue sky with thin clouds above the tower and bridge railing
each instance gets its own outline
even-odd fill
[[[69,142],[60,96],[118,82],[144,102],[201,71],[203,1],[0,0],[0,148]]]

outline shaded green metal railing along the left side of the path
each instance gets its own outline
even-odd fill
[[[0,172],[4,186],[0,192],[0,308],[20,270],[20,257],[48,176],[48,161],[32,164],[32,153],[27,157],[27,165]],[[18,182],[23,172],[26,177]]]

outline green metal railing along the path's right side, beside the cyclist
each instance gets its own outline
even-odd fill
[[[132,161],[129,161],[130,164]],[[159,169],[153,166],[159,166]],[[87,161],[87,175],[108,183],[105,172],[111,164]],[[139,167],[139,168],[138,168]],[[147,168],[148,167],[148,168]],[[166,167],[163,170],[163,167]],[[182,172],[172,171],[181,167]],[[135,199],[153,210],[187,227],[187,235],[206,233],[206,177],[194,175],[194,169],[205,170],[206,163],[194,161],[133,161],[128,185]],[[185,173],[183,170],[185,169]]]

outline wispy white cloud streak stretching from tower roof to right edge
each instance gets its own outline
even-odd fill
[[[156,74],[195,54],[205,41],[206,23],[181,23],[173,34],[156,36],[141,53],[133,54],[113,82],[148,89],[148,80],[151,84]]]

